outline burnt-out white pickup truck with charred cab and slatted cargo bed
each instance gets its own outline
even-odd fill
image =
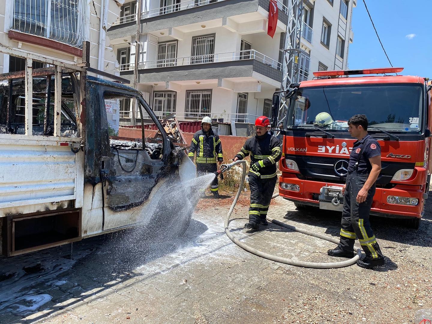
[[[165,235],[189,226],[194,201],[166,197],[195,175],[141,93],[88,66],[11,48],[25,70],[0,74],[0,244],[13,256],[141,226]],[[35,68],[34,62],[44,67]],[[38,64],[38,67],[41,66]],[[117,78],[120,79],[120,78]],[[158,129],[151,140],[110,138],[107,109],[136,105]],[[184,187],[184,186],[183,186]],[[182,197],[183,196],[183,197]]]

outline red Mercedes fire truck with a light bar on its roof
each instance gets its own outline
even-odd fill
[[[355,142],[347,121],[365,114],[382,150],[371,214],[419,227],[430,182],[431,86],[427,78],[397,75],[402,70],[319,71],[316,79],[290,86],[281,126],[280,196],[298,208],[341,211]]]

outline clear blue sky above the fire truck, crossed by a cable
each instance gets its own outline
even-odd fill
[[[403,75],[432,79],[432,3],[429,0],[365,0],[378,35],[394,67]],[[357,0],[349,46],[350,70],[390,67],[369,20],[363,0]]]

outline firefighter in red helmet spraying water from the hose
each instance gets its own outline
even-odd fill
[[[245,159],[251,155],[249,168],[249,187],[251,189],[251,205],[249,222],[245,228],[259,230],[260,224],[267,226],[267,211],[276,185],[276,162],[280,160],[282,151],[279,140],[267,132],[270,120],[266,116],[255,121],[257,134],[246,140],[245,145],[237,153],[233,161]]]

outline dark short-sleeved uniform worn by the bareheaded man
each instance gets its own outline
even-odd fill
[[[369,134],[354,143],[349,155],[340,230],[340,247],[344,251],[353,251],[354,241],[359,238],[363,251],[371,259],[383,257],[369,222],[375,183],[369,189],[364,202],[357,203],[356,197],[372,170],[369,159],[379,155],[381,147]]]

